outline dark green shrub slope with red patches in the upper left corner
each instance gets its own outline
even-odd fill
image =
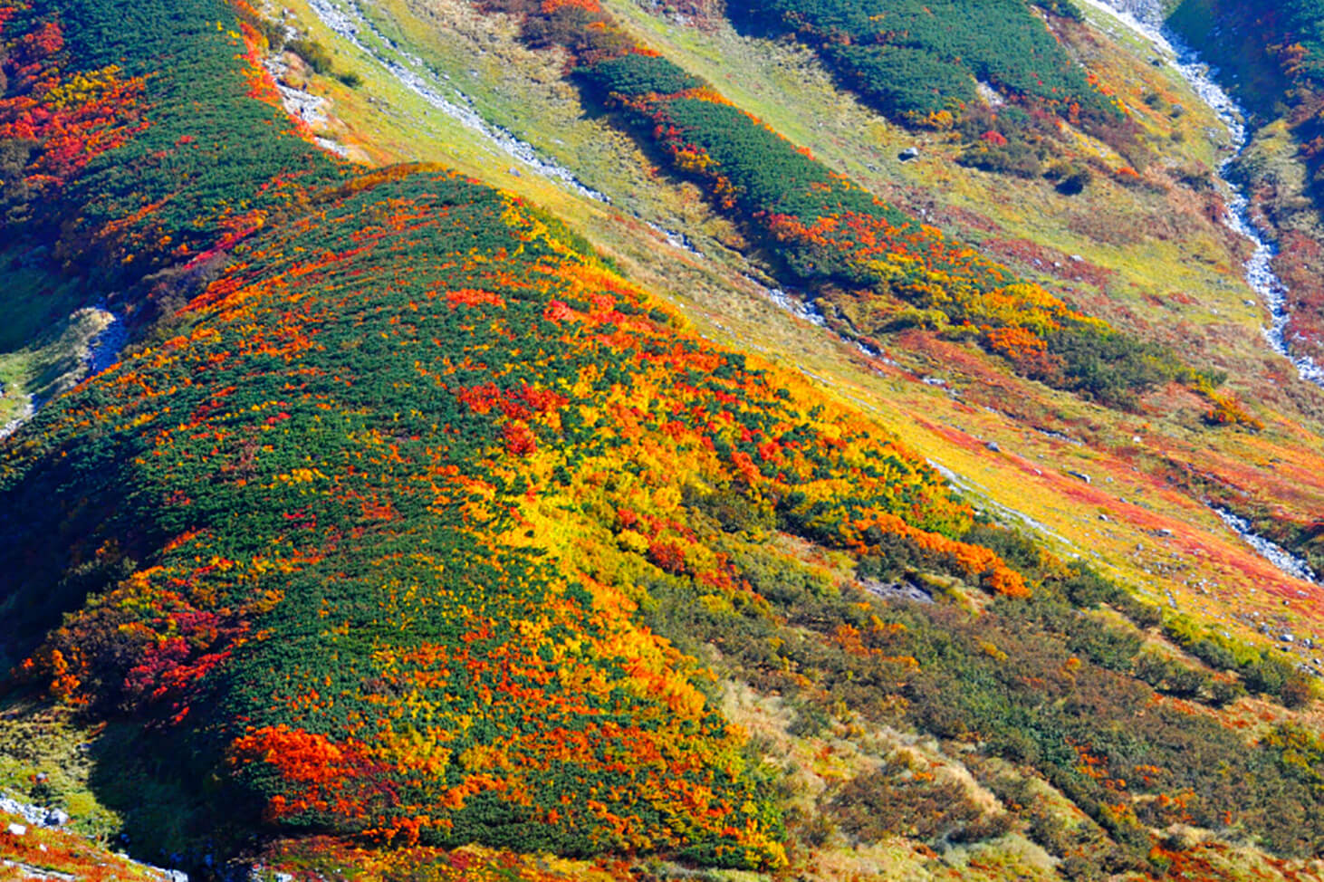
[[[5,253],[11,268],[79,279],[83,301],[114,293],[111,307],[143,319],[172,310],[299,188],[340,175],[279,107],[250,99],[270,87],[260,70],[236,70],[249,46],[233,11],[38,1],[4,26],[26,34],[11,37],[0,115],[11,135]],[[109,69],[142,83],[135,99],[94,90],[93,113],[71,111],[87,89],[75,74],[95,82]],[[28,136],[12,138],[20,130]]]

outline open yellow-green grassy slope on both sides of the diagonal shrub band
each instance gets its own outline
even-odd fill
[[[385,83],[381,87],[399,95],[400,103],[385,117],[373,113],[361,119],[361,94],[344,99],[359,103],[336,98],[340,103],[335,106],[350,114],[351,123],[363,123],[356,130],[360,134],[372,131],[377,124],[372,121],[389,122],[397,127],[393,131],[413,132],[409,150],[454,158],[475,168],[474,173],[540,199],[545,195],[548,204],[568,211],[564,216],[569,222],[634,278],[685,305],[704,332],[786,359],[839,387],[829,395],[847,396],[884,413],[929,458],[969,477],[967,483],[978,486],[996,506],[1018,510],[1057,536],[1071,538],[1058,547],[1096,558],[1143,593],[1156,599],[1172,595],[1182,611],[1223,620],[1223,626],[1234,630],[1263,626],[1242,607],[1251,587],[1267,581],[1272,595],[1299,597],[1301,591],[1312,596],[1313,587],[1266,569],[1255,551],[1205,503],[1249,516],[1259,532],[1317,564],[1311,524],[1324,503],[1324,487],[1313,446],[1303,442],[1319,432],[1317,392],[1296,380],[1259,335],[1264,319],[1242,278],[1243,242],[1221,226],[1219,197],[1207,185],[1222,140],[1217,119],[1176,73],[1151,64],[1147,46],[1107,16],[1090,11],[1083,23],[1055,19],[1053,26],[1102,87],[1121,98],[1151,158],[1139,177],[1129,177],[1120,173],[1128,160],[1102,142],[1083,134],[1054,142],[1063,162],[1080,164],[1091,176],[1084,192],[1071,196],[1059,192],[1053,180],[964,167],[965,148],[959,139],[888,124],[849,94],[834,91],[830,74],[793,45],[737,34],[716,19],[700,19],[702,26],[692,26],[692,20],[671,21],[632,4],[606,4],[630,40],[651,45],[686,72],[719,83],[737,107],[755,113],[793,144],[812,148],[834,173],[849,173],[873,192],[939,224],[944,233],[960,234],[1071,306],[1104,317],[1129,335],[1180,350],[1201,372],[1226,372],[1235,397],[1219,392],[1211,400],[1160,388],[1144,397],[1135,413],[1112,413],[1006,376],[997,359],[972,358],[968,348],[953,346],[960,343],[960,332],[925,327],[945,320],[941,315],[911,309],[870,318],[870,310],[876,315],[896,306],[879,310],[886,301],[875,298],[866,306],[867,301],[837,293],[834,302],[851,318],[882,330],[874,342],[898,364],[894,371],[863,359],[834,335],[779,313],[767,290],[751,278],[771,286],[773,279],[785,283],[786,277],[777,274],[768,252],[751,244],[748,228],[732,224],[730,212],[706,203],[694,184],[662,173],[659,164],[670,164],[667,155],[641,154],[624,142],[626,135],[612,124],[618,118],[601,115],[593,101],[583,105],[587,114],[580,110],[584,98],[575,81],[560,78],[568,58],[559,50],[524,45],[518,17],[483,15],[462,3],[356,9],[373,28],[418,53],[416,61],[425,66],[408,58],[400,64],[418,72],[430,87],[451,97],[467,95],[490,121],[528,139],[613,203],[604,205],[539,177],[510,156],[483,148],[483,139],[473,131],[454,139],[428,135],[426,127],[445,122],[444,115],[429,113],[400,82],[392,85],[389,72],[373,57],[343,48],[336,64],[361,72],[369,83],[364,90]],[[311,11],[291,21],[327,45],[343,45]],[[361,24],[359,33],[367,33]],[[373,52],[377,58],[404,58],[400,49],[395,56]],[[314,79],[312,87],[318,82]],[[343,91],[334,82],[327,90],[334,95]],[[822,110],[806,117],[804,107]],[[393,150],[402,148],[399,140],[392,143]],[[922,146],[920,158],[898,162],[900,148],[914,143]],[[485,150],[490,156],[475,162]],[[675,238],[667,244],[658,230],[662,226],[685,232],[696,250],[686,250]],[[837,326],[850,332],[842,318]],[[890,320],[892,330],[886,330]],[[898,334],[895,328],[908,323],[918,326]],[[961,401],[953,401],[943,388],[916,383],[925,376],[947,381]],[[1116,379],[1107,372],[1090,376]],[[972,420],[969,408],[984,413]],[[1254,434],[1206,422],[1235,420],[1239,413],[1263,422],[1264,430]],[[937,424],[977,425],[970,445],[960,452],[947,446],[943,432],[931,428],[935,416]],[[1137,437],[1141,441],[1136,442]],[[1025,452],[1033,465],[1013,467],[1008,458],[989,456],[982,449],[986,441]],[[1247,442],[1263,454],[1245,457]],[[1206,450],[1217,453],[1205,456]],[[1102,467],[1094,464],[1096,457],[1113,464],[1107,474],[1095,474]],[[1290,478],[1278,473],[1275,460],[1294,464]],[[1096,483],[1088,494],[1102,507],[1079,505],[1076,490],[1084,490],[1079,479],[1043,478],[1067,471],[1094,475]],[[1112,482],[1117,486],[1110,486]],[[1030,487],[1033,491],[1026,491]],[[1156,532],[1174,527],[1166,522],[1156,527],[1153,516],[1136,507],[1132,489],[1155,493],[1156,503],[1141,502],[1141,507],[1185,524],[1190,542],[1174,544]],[[1099,520],[1099,514],[1110,520]],[[1019,522],[1016,516],[1012,520]],[[1214,551],[1226,562],[1218,564],[1219,575],[1193,576],[1207,563],[1202,555]],[[1201,585],[1201,579],[1209,584]],[[1211,588],[1214,583],[1221,588]],[[1274,605],[1267,599],[1254,603],[1264,608],[1263,614]],[[1312,609],[1304,604],[1272,611],[1270,629],[1317,636],[1309,624]],[[1308,652],[1304,656],[1309,658]]]

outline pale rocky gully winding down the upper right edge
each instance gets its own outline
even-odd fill
[[[1155,52],[1166,58],[1181,78],[1209,105],[1227,127],[1231,154],[1218,164],[1214,176],[1227,197],[1225,222],[1238,234],[1255,245],[1255,253],[1246,262],[1246,283],[1260,295],[1270,313],[1270,326],[1264,338],[1275,352],[1296,367],[1298,375],[1308,383],[1324,387],[1324,368],[1307,355],[1292,351],[1287,338],[1287,324],[1291,315],[1287,311],[1287,286],[1274,273],[1274,258],[1278,257],[1278,244],[1272,230],[1262,229],[1251,216],[1250,197],[1245,187],[1233,184],[1227,170],[1250,143],[1246,128],[1246,111],[1214,79],[1207,64],[1188,46],[1181,37],[1164,25],[1162,9],[1157,0],[1080,0],[1088,7],[1100,9],[1133,33],[1153,45]]]

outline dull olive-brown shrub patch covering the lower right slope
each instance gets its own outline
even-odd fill
[[[735,558],[765,607],[714,612],[683,585],[650,588],[655,628],[690,634],[682,644],[690,652],[711,642],[727,675],[796,697],[792,731],[822,731],[849,707],[874,723],[932,732],[965,746],[981,783],[1014,807],[1010,817],[970,810],[940,781],[925,785],[891,769],[824,793],[821,816],[793,818],[796,836],[821,838],[835,825],[858,841],[902,833],[941,848],[1027,829],[1050,853],[1075,858],[1072,878],[1156,873],[1149,830],[1172,824],[1239,826],[1272,852],[1319,853],[1315,818],[1324,803],[1294,738],[1275,735],[1249,748],[1242,734],[1188,703],[1217,707],[1241,686],[1143,650],[1157,611],[998,531],[981,527],[968,539],[1025,567],[1033,597],[970,614],[949,595],[944,601],[951,588],[941,580],[925,585],[904,551],[865,556],[861,575],[878,585],[911,580],[937,603],[898,605],[838,592],[768,554]],[[1103,614],[1107,608],[1139,624]],[[1147,682],[1186,701],[1161,699]],[[1063,825],[1043,793],[1005,776],[1001,761],[1033,768],[1090,822]],[[919,808],[925,799],[936,800],[928,810]]]

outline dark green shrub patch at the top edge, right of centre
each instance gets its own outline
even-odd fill
[[[1039,173],[1059,122],[1119,147],[1133,131],[1123,110],[1067,54],[1041,17],[1079,21],[1070,3],[980,0],[777,0],[736,3],[736,21],[809,42],[838,74],[892,119],[949,128],[960,123],[967,160]],[[1014,102],[990,109],[976,83]]]

